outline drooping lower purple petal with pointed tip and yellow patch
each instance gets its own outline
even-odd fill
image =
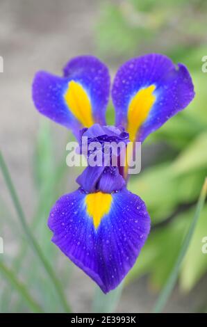
[[[135,263],[150,218],[144,202],[125,188],[112,194],[78,189],[56,202],[49,228],[60,250],[107,293]]]

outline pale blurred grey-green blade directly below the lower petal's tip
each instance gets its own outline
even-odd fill
[[[104,294],[99,287],[95,289],[95,294],[92,302],[92,312],[98,313],[110,313],[114,312],[119,303],[119,299],[122,295],[124,283],[122,282],[119,287],[114,289],[108,294]]]

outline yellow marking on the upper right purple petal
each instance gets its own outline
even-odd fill
[[[131,99],[128,111],[128,126],[130,141],[135,141],[138,129],[142,125],[142,122],[147,119],[149,111],[153,106],[156,96],[153,94],[156,86],[151,85],[148,88],[142,88]]]

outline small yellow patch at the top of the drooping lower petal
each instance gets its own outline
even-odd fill
[[[90,193],[85,197],[88,216],[92,217],[94,228],[98,228],[103,218],[110,211],[112,196],[108,193]]]

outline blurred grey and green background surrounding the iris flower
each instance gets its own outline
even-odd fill
[[[172,271],[207,174],[207,73],[201,70],[207,56],[206,17],[205,0],[0,0],[1,151],[28,225],[74,312],[150,312]],[[36,71],[61,74],[69,58],[80,54],[99,56],[114,76],[124,61],[147,52],[161,52],[187,65],[196,97],[142,146],[142,171],[131,178],[129,189],[147,204],[151,234],[122,294],[103,299],[90,278],[50,241],[49,209],[60,195],[76,189],[81,168],[67,168],[65,145],[72,135],[38,114],[31,83]],[[107,115],[113,124],[111,104]],[[32,312],[25,290],[45,312],[63,312],[28,245],[1,174],[0,185],[0,312]],[[204,237],[207,205],[165,312],[206,312]]]

